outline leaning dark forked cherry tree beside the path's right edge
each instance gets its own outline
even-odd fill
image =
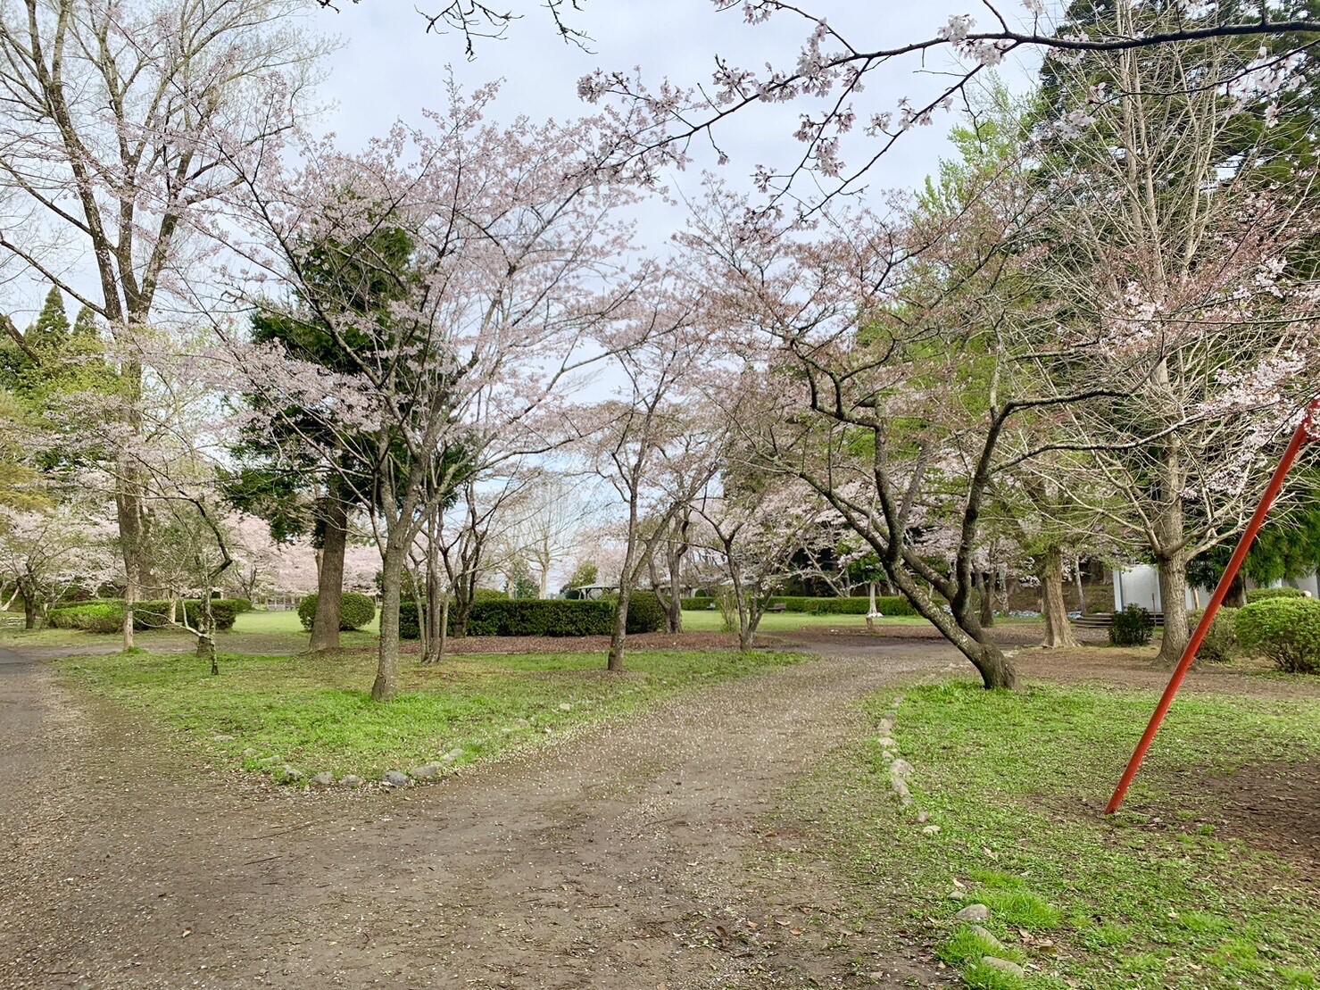
[[[993,480],[1035,454],[1069,405],[1023,368],[1052,348],[1052,309],[1023,272],[1040,260],[1038,197],[1020,170],[969,174],[940,209],[898,202],[814,228],[715,189],[686,243],[708,260],[719,323],[762,348],[774,396],[763,457],[820,494],[892,585],[981,672],[1015,685],[973,607]]]

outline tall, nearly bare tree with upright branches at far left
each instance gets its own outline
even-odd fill
[[[0,268],[33,273],[116,335],[150,323],[189,277],[191,224],[232,189],[227,162],[264,153],[289,128],[319,50],[300,4],[24,0],[0,11]],[[95,289],[79,273],[92,267]],[[143,368],[120,368],[128,433]],[[144,581],[145,480],[132,457],[112,474],[125,564],[124,647]]]

